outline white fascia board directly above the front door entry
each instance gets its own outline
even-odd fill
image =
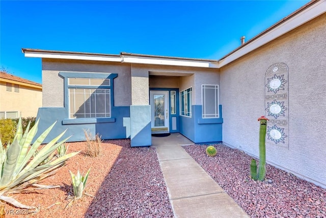
[[[137,64],[155,64],[155,65],[172,65],[172,66],[187,66],[187,67],[204,67],[204,68],[218,68],[218,62],[212,63],[209,61],[191,61],[179,59],[166,58],[150,58],[150,57],[135,57],[128,55],[121,55],[123,63],[137,63]]]

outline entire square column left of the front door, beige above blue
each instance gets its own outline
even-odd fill
[[[148,69],[135,65],[131,65],[130,143],[152,145]]]

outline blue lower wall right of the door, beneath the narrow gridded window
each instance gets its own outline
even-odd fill
[[[202,118],[202,106],[192,106],[192,117],[180,116],[180,133],[195,143],[222,141],[222,105],[220,118]]]

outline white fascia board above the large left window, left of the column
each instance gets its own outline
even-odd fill
[[[32,58],[51,58],[51,59],[73,59],[73,60],[90,60],[90,61],[111,61],[121,62],[121,58],[118,57],[107,57],[100,55],[86,55],[86,54],[65,54],[65,53],[51,53],[51,52],[31,52],[24,51],[25,57]]]

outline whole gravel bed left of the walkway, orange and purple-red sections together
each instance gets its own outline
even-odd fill
[[[61,188],[12,195],[20,203],[5,206],[6,217],[172,217],[172,207],[154,148],[130,148],[129,139],[104,140],[100,156],[85,153],[85,142],[67,143],[68,153],[82,151],[41,182]],[[84,195],[71,202],[69,171],[85,173],[91,167]],[[69,204],[70,202],[70,204]]]

